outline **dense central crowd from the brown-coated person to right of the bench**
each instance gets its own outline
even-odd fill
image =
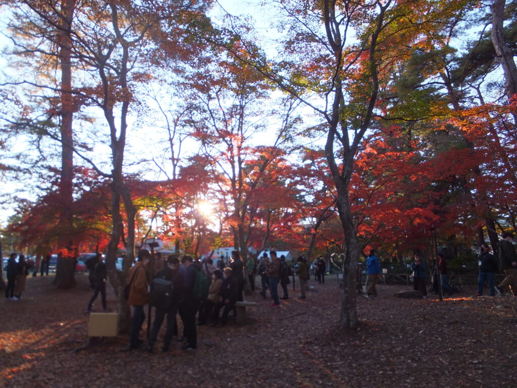
[[[285,257],[277,257],[276,251],[270,251],[269,257],[265,254],[255,264],[253,259],[247,263],[242,261],[239,252],[232,252],[232,260],[227,267],[222,267],[219,260],[218,266],[214,266],[211,259],[204,262],[193,260],[190,256],[183,256],[181,260],[176,256],[169,256],[166,260],[161,257],[154,259],[153,272],[156,269],[153,280],[148,281],[148,267],[153,256],[146,249],[138,253],[135,265],[127,275],[128,302],[132,306],[131,334],[127,351],[144,346],[144,341],[139,339],[139,334],[145,321],[144,306],[149,304],[155,307],[155,320],[151,326],[149,338],[146,344],[148,352],[154,352],[158,333],[163,320],[166,319],[166,329],[161,350],[166,352],[171,347],[173,337],[179,337],[183,342],[181,349],[194,350],[197,347],[198,325],[210,325],[221,327],[226,324],[227,318],[233,312],[236,314],[236,304],[244,300],[244,289],[249,282],[251,289],[254,287],[254,275],[261,276],[262,290],[260,294],[267,298],[269,291],[273,300],[271,307],[280,306],[280,300],[289,298],[287,285],[291,282],[291,266],[285,261]],[[306,297],[307,281],[309,280],[309,268],[305,258],[297,260],[296,274],[300,279],[300,298]],[[95,267],[97,273],[98,264]],[[103,272],[99,270],[101,276]],[[280,285],[283,296],[278,295]],[[92,303],[97,296],[97,288],[87,311],[90,311]],[[100,289],[99,292],[102,293]],[[104,302],[103,302],[104,303]],[[105,306],[103,305],[103,308]],[[222,312],[221,312],[222,311]],[[176,316],[179,315],[183,322],[183,335],[178,336]],[[196,323],[197,316],[197,323]]]

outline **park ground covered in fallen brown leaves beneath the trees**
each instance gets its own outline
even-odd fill
[[[248,296],[258,302],[249,310],[250,324],[230,319],[223,328],[198,327],[196,351],[175,344],[161,353],[158,343],[149,354],[121,352],[127,336],[71,352],[87,339],[91,296],[87,275],[76,278],[77,287],[60,291],[52,276],[29,277],[21,301],[0,300],[0,386],[517,386],[517,301],[472,297],[474,286],[440,302],[434,296],[399,300],[393,295],[411,287],[379,285],[380,297],[358,301],[359,329],[340,332],[336,279],[311,280],[307,299],[297,299],[290,285],[281,308]],[[114,295],[108,296],[113,309]]]

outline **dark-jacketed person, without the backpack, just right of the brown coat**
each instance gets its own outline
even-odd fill
[[[171,341],[175,330],[177,334],[176,313],[178,311],[179,301],[183,299],[184,279],[183,275],[179,271],[179,259],[177,257],[169,256],[166,263],[167,266],[163,268],[163,270],[158,271],[156,273],[156,277],[172,282],[172,295],[170,295],[170,300],[164,303],[164,305],[168,305],[168,308],[156,307],[155,321],[153,322],[153,329],[151,329],[147,345],[147,351],[149,353],[153,352],[153,347],[156,339],[158,338],[158,332],[160,331],[160,327],[165,316],[167,317],[167,327],[165,330],[165,336],[163,337],[163,347],[161,348],[162,352],[168,351],[171,347]],[[151,286],[151,294],[153,293],[152,287],[153,286]]]

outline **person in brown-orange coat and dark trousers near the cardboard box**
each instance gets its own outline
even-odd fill
[[[149,264],[151,254],[147,249],[138,252],[138,261],[129,270],[126,283],[131,283],[128,302],[133,306],[131,318],[131,336],[127,350],[138,349],[142,341],[138,338],[142,324],[145,320],[144,305],[150,301],[149,283],[147,282],[146,266]]]

